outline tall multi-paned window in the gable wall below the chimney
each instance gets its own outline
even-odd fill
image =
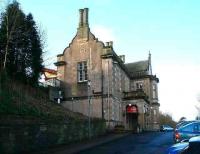
[[[83,82],[88,80],[88,72],[87,72],[87,62],[78,62],[77,65],[77,74],[78,74],[78,82]]]

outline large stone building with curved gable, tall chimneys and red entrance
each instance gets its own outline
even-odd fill
[[[91,32],[88,8],[80,9],[76,36],[57,55],[57,79],[62,105],[74,112],[103,118],[107,127],[122,124],[126,130],[158,130],[157,83],[148,60],[125,63],[113,42],[105,44]]]

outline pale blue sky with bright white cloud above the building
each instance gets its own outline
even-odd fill
[[[0,0],[0,6],[3,7]],[[31,12],[46,40],[44,60],[55,68],[76,34],[79,9],[89,8],[91,32],[113,41],[126,63],[152,54],[153,73],[159,78],[160,110],[178,121],[197,115],[200,95],[199,0],[19,0]]]

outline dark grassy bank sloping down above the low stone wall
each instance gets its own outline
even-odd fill
[[[43,120],[86,118],[49,101],[48,89],[33,88],[11,80],[3,74],[0,75],[0,115],[30,116]]]

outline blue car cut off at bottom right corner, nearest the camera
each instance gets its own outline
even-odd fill
[[[169,147],[167,154],[199,154],[200,136],[192,137],[184,142],[176,143]]]

